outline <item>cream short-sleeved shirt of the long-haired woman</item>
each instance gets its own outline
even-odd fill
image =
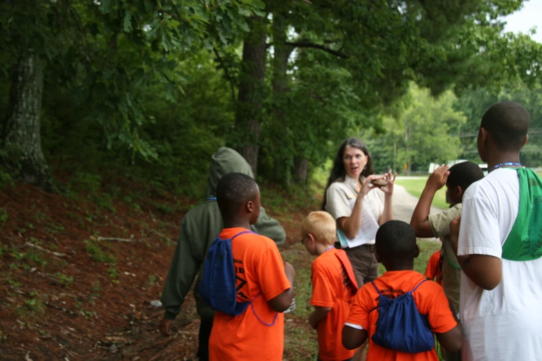
[[[378,219],[384,212],[384,205],[377,192],[379,189],[371,189],[368,194],[363,196],[363,207],[361,208],[361,226],[354,239],[347,239],[344,234],[344,241],[347,247],[356,247],[362,244],[374,244],[374,237],[379,228]],[[345,176],[343,182],[335,182],[327,188],[325,210],[333,216],[334,219],[341,217],[350,217],[356,197],[356,180],[350,176]],[[338,235],[341,238],[341,235]],[[339,240],[338,239],[338,240]],[[341,245],[345,246],[341,241]]]

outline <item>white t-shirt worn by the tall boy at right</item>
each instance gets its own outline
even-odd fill
[[[501,258],[519,205],[514,169],[496,169],[463,197],[458,254]],[[463,361],[542,360],[542,258],[502,259],[503,278],[484,290],[461,272]]]

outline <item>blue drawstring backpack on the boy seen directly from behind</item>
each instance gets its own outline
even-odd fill
[[[389,299],[382,295],[374,282],[372,286],[379,294],[377,330],[371,339],[375,344],[395,351],[419,353],[431,351],[435,346],[435,337],[426,315],[421,315],[414,302],[412,293],[422,285],[421,281],[410,292]]]

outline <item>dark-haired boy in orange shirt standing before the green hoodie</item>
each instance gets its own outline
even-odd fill
[[[209,339],[210,361],[282,361],[284,314],[293,299],[295,271],[275,242],[250,232],[260,214],[260,189],[250,176],[226,174],[217,185],[224,219],[220,239],[232,239],[237,302],[251,302],[237,316],[217,312]]]

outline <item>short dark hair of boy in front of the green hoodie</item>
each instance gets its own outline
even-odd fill
[[[217,203],[222,213],[233,215],[239,212],[244,203],[258,194],[256,181],[242,173],[229,173],[220,178],[217,185]]]

